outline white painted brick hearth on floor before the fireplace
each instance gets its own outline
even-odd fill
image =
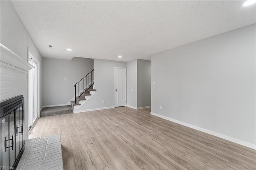
[[[26,140],[17,170],[63,170],[60,134]]]

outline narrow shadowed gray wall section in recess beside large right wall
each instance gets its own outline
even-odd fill
[[[151,61],[137,59],[138,104],[137,107],[151,106]]]

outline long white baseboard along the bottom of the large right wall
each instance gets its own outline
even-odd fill
[[[201,132],[205,132],[205,133],[208,133],[208,134],[211,134],[213,136],[217,136],[219,138],[223,138],[223,139],[226,139],[226,140],[229,140],[230,142],[234,142],[234,143],[237,143],[237,144],[240,144],[240,145],[243,145],[243,146],[246,146],[248,148],[252,148],[254,150],[256,150],[256,145],[255,144],[251,144],[249,142],[245,142],[243,140],[240,140],[240,139],[236,139],[236,138],[233,138],[233,137],[230,137],[230,136],[226,136],[224,134],[220,134],[218,132],[214,132],[214,131],[211,131],[211,130],[208,130],[208,129],[205,129],[205,128],[201,128],[201,127],[197,127],[195,125],[191,125],[191,124],[188,124],[188,123],[184,123],[182,121],[178,121],[176,119],[172,119],[170,117],[166,117],[166,116],[163,116],[163,115],[158,115],[156,113],[153,113],[151,112],[150,115],[154,115],[156,117],[160,117],[162,119],[166,119],[168,121],[172,121],[174,123],[178,123],[180,125],[184,125],[186,127],[190,127],[190,128],[193,128],[193,129],[196,129],[196,130],[199,130]]]

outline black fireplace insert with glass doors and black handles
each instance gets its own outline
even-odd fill
[[[0,167],[16,169],[24,151],[24,97],[13,97],[0,103]]]

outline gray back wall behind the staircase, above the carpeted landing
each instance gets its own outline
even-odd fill
[[[93,59],[43,58],[43,105],[64,105],[74,97],[74,84],[93,69]],[[67,80],[65,81],[64,78]]]

